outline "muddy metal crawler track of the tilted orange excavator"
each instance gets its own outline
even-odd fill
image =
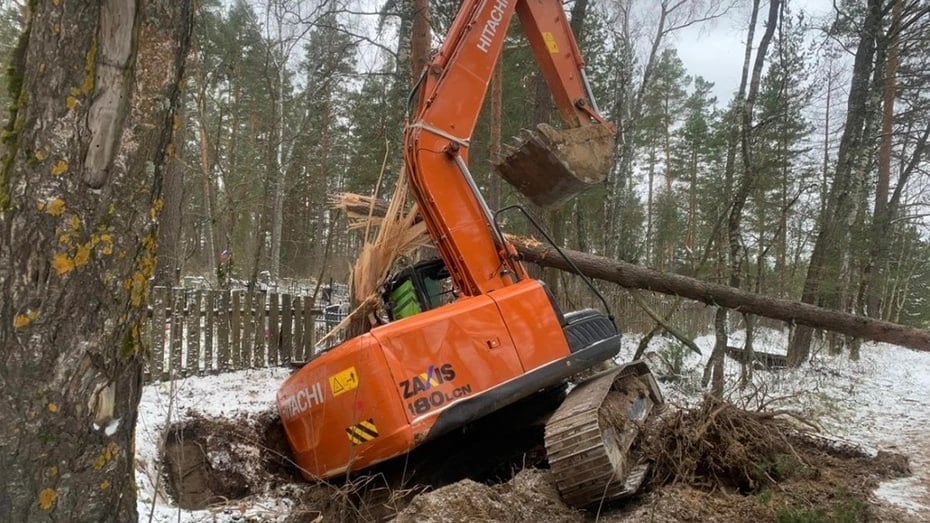
[[[571,391],[546,424],[546,451],[566,503],[585,507],[635,493],[648,466],[630,455],[642,422],[662,405],[649,369],[634,362]]]

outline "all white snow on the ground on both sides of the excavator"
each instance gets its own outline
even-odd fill
[[[729,345],[741,346],[745,333],[737,331]],[[624,337],[618,357],[628,361],[639,337]],[[714,344],[712,335],[695,340],[698,356],[668,338],[652,340],[647,359],[653,372],[680,376],[662,382],[670,403],[693,404],[701,395],[701,375]],[[816,343],[816,342],[815,342]],[[758,351],[784,353],[784,332],[760,329]],[[830,356],[815,346],[811,363],[797,370],[756,371],[753,384],[739,391],[739,364],[727,359],[728,397],[746,408],[768,403],[790,408],[816,420],[825,433],[853,441],[867,449],[908,455],[913,475],[884,482],[875,495],[919,518],[930,519],[930,353],[884,343],[865,343],[862,358]],[[247,514],[238,506],[203,511],[179,510],[171,505],[158,478],[158,448],[163,429],[193,413],[235,418],[274,408],[274,397],[289,369],[256,369],[219,376],[192,377],[146,386],[136,427],[136,482],[140,521],[229,521]],[[156,487],[157,484],[157,487]],[[156,495],[156,491],[158,494]],[[265,514],[287,512],[285,502],[262,500],[249,510]],[[254,514],[254,513],[253,513]]]

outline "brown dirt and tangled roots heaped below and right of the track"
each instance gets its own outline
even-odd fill
[[[523,470],[500,485],[465,480],[421,494],[398,521],[913,520],[871,494],[880,481],[909,473],[905,457],[870,456],[797,427],[790,416],[709,401],[644,428],[639,452],[654,472],[629,500],[577,511],[547,471]]]

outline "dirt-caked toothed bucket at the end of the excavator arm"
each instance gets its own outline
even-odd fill
[[[595,124],[556,129],[539,124],[524,129],[508,147],[497,172],[540,207],[555,207],[607,178],[613,163],[614,133]]]

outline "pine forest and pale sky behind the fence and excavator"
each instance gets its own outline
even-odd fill
[[[420,69],[410,48],[422,0],[196,7],[155,282],[346,281],[361,240],[331,198],[390,194]],[[436,48],[458,3],[428,7]],[[562,209],[534,209],[557,242],[930,325],[930,7],[575,0],[566,9],[600,108],[620,132],[606,183]],[[3,8],[4,55],[23,12]],[[750,44],[719,60],[741,67],[726,94],[676,49],[715,32]],[[498,73],[470,149],[494,208],[524,203],[491,172],[501,137],[558,122],[518,23]],[[533,234],[516,220],[508,229]]]

